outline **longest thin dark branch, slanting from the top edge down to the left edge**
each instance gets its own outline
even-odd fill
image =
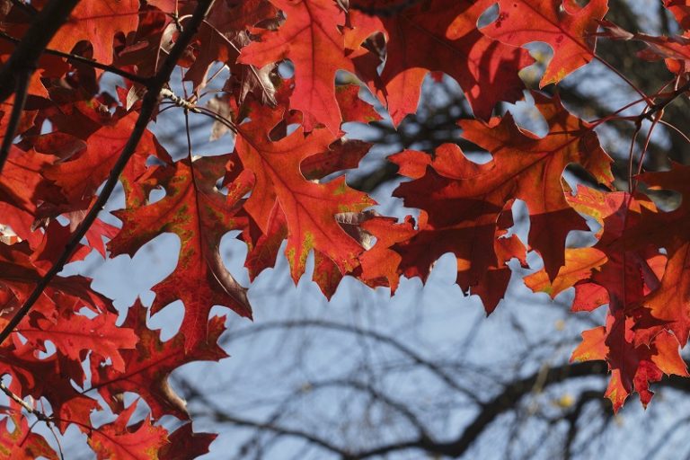
[[[50,270],[40,279],[36,288],[31,291],[31,295],[24,301],[22,307],[14,314],[12,320],[4,327],[3,331],[0,332],[0,343],[4,342],[7,337],[13,332],[14,328],[22,321],[24,316],[29,314],[31,311],[31,306],[39,299],[43,294],[45,288],[48,288],[50,281],[55,278],[57,273],[59,273],[66,262],[69,261],[72,253],[75,251],[76,246],[79,244],[84,234],[93,225],[98,213],[101,212],[105,203],[111,197],[111,193],[115,190],[115,186],[119,181],[119,174],[125,169],[129,158],[134,155],[137,149],[139,140],[146,132],[146,127],[151,117],[155,113],[155,108],[158,105],[161,90],[164,85],[170,80],[170,75],[173,73],[173,69],[177,65],[177,61],[181,58],[182,53],[190,44],[190,41],[194,38],[197,31],[199,30],[199,24],[204,20],[211,6],[215,0],[199,0],[199,4],[194,10],[189,22],[187,22],[184,31],[180,34],[180,37],[175,42],[173,49],[171,49],[168,57],[165,58],[163,66],[155,74],[155,76],[150,80],[149,84],[146,86],[146,95],[141,104],[141,111],[139,111],[139,116],[137,122],[132,129],[132,134],[129,136],[127,144],[122,149],[122,153],[119,155],[117,162],[112,167],[111,173],[108,176],[108,180],[105,182],[101,194],[93,202],[92,208],[84,217],[84,220],[76,228],[75,233],[69,238],[69,241],[65,245],[65,251],[60,254],[57,261],[50,267]],[[41,12],[42,13],[42,12]]]

